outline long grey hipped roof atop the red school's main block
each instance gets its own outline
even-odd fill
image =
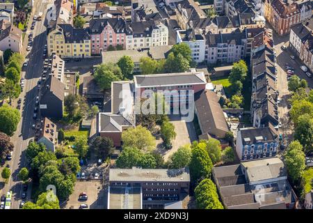
[[[179,84],[206,84],[203,72],[180,72],[161,75],[135,75],[136,87]]]

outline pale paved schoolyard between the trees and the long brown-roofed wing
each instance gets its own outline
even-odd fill
[[[165,148],[159,148],[159,153],[163,155],[165,161],[168,160],[170,155],[175,153],[180,146],[185,146],[186,144],[191,144],[193,141],[197,140],[197,135],[195,134],[195,127],[193,122],[186,122],[181,120],[180,116],[169,116],[170,123],[175,127],[176,137],[172,141],[172,148],[168,151]],[[158,141],[161,143],[161,141]]]

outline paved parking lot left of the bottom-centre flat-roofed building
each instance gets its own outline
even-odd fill
[[[87,201],[79,201],[81,192],[86,192]],[[102,187],[102,180],[77,180],[74,192],[63,208],[78,209],[83,203],[86,203],[89,209],[106,209],[107,190]]]

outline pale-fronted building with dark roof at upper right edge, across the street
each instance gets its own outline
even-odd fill
[[[313,18],[291,27],[289,47],[313,70]]]

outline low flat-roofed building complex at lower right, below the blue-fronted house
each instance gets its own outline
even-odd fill
[[[227,209],[292,209],[296,203],[278,157],[214,167],[212,176]]]

